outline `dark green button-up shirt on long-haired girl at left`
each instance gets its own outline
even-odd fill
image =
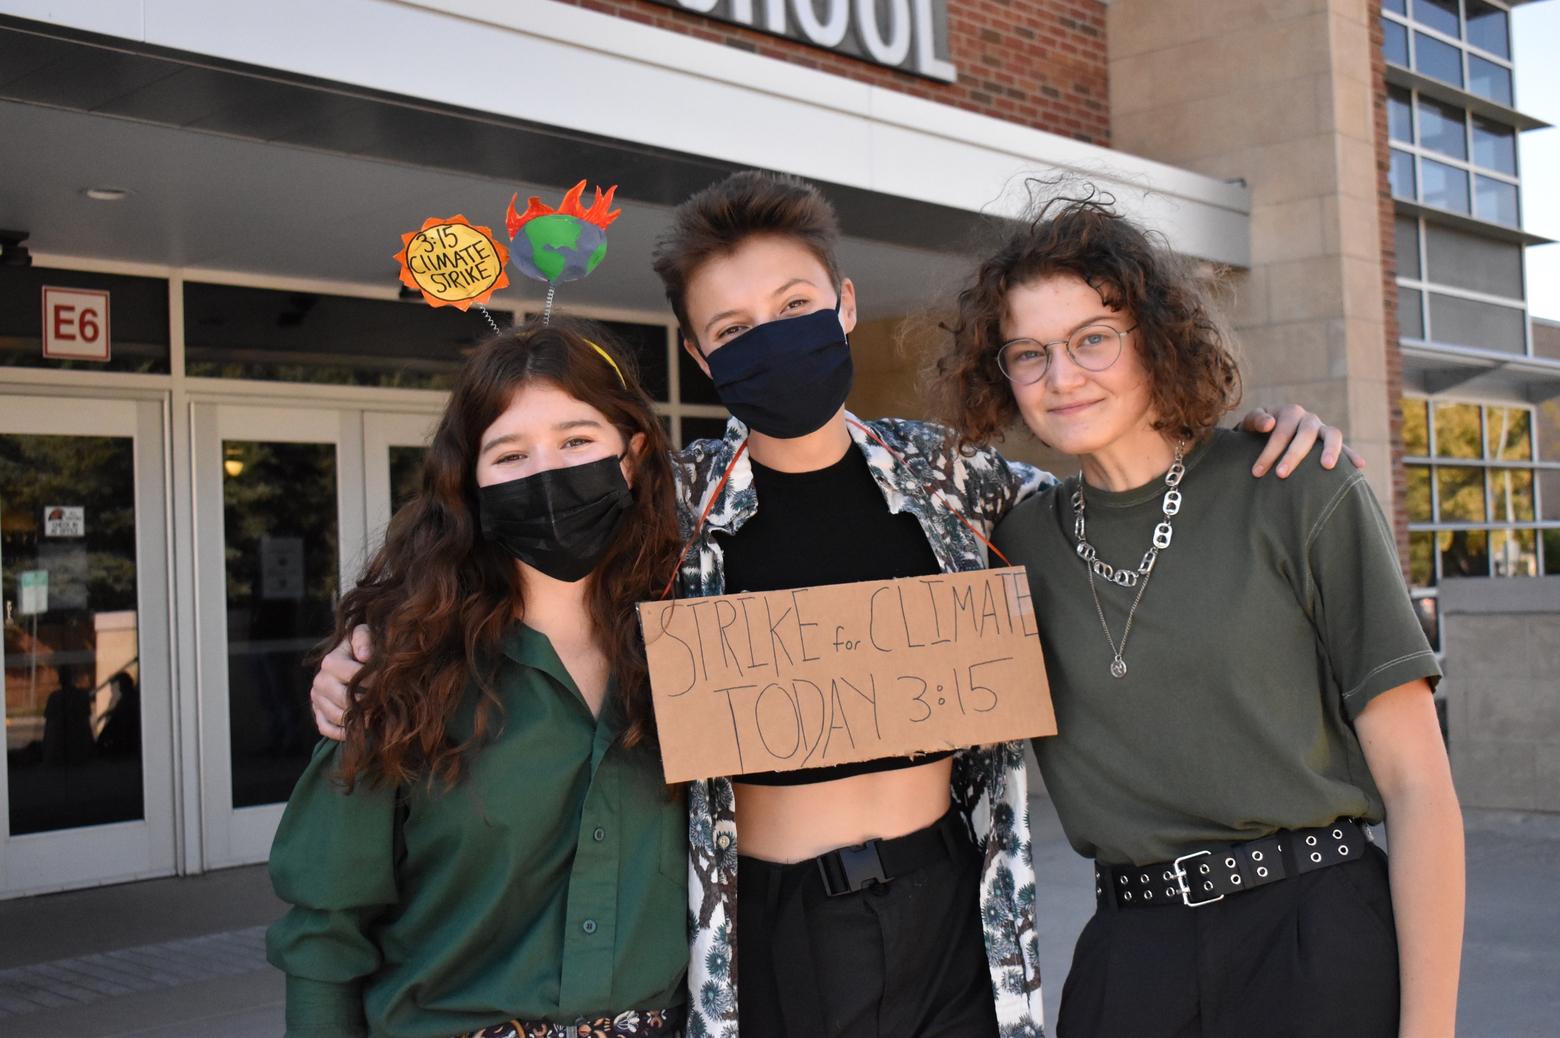
[[[337,745],[298,780],[268,933],[289,1035],[432,1038],[685,1001],[686,807],[587,707],[548,638],[516,624],[502,727],[452,790],[345,793]],[[470,732],[474,698],[451,724]]]

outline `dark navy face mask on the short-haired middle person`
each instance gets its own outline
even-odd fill
[[[855,368],[835,306],[749,328],[707,357],[716,395],[739,421],[791,440],[844,406]]]

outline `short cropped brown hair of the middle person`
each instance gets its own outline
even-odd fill
[[[838,290],[841,286],[839,217],[807,181],[783,173],[744,170],[710,184],[672,211],[672,225],[655,244],[655,273],[685,339],[697,342],[688,320],[688,279],[718,256],[760,234],[789,237],[805,245]]]

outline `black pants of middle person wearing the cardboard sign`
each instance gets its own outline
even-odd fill
[[[945,858],[839,898],[814,862],[738,860],[743,1038],[994,1038],[981,855],[956,816],[938,824],[958,834]],[[808,997],[822,1033],[799,1027]]]

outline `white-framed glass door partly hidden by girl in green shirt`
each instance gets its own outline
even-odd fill
[[[206,865],[261,862],[309,762],[312,654],[363,551],[356,411],[193,404]]]

